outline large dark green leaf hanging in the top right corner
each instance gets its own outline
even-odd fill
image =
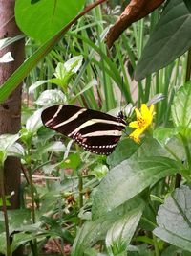
[[[183,0],[170,0],[138,61],[141,80],[180,57],[191,46],[191,13]]]

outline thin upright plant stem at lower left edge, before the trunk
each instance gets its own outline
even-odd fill
[[[2,210],[4,214],[5,230],[6,230],[6,256],[11,256],[9,220],[8,220],[8,211],[6,206],[6,195],[5,195],[5,185],[4,185],[4,166],[2,163],[0,164],[0,187],[1,187],[1,196],[2,196]]]

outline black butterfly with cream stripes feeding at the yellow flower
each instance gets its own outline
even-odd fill
[[[110,154],[126,127],[122,112],[114,117],[75,105],[53,105],[42,112],[45,127],[56,130],[97,154]]]

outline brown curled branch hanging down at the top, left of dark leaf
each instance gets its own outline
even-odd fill
[[[157,9],[165,0],[131,0],[124,12],[118,17],[115,25],[109,30],[106,36],[106,44],[111,48],[117,38],[133,22],[145,17],[150,12]]]

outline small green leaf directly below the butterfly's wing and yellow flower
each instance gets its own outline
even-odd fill
[[[117,145],[116,150],[107,157],[107,164],[114,167],[123,160],[128,159],[132,154],[138,150],[140,145],[135,143],[132,139],[124,139]]]

